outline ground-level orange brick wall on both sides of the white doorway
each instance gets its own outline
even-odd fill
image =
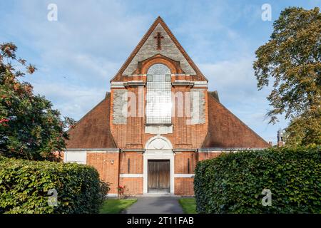
[[[188,159],[190,159],[190,174],[194,173],[197,160],[206,160],[218,157],[221,152],[176,152],[175,174],[188,174]],[[121,167],[118,169],[118,160],[121,157]],[[128,172],[128,158],[130,159],[130,172]],[[113,160],[113,165],[111,161]],[[88,152],[87,165],[95,167],[101,180],[111,182],[111,191],[116,194],[118,187],[118,170],[121,174],[143,174],[143,155],[141,152]],[[175,195],[194,195],[193,177],[175,177]],[[119,177],[119,185],[126,185],[127,195],[143,194],[143,177]]]

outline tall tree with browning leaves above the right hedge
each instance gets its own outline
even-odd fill
[[[285,114],[288,145],[321,144],[321,14],[320,9],[290,7],[273,24],[270,40],[255,52],[259,90],[267,96],[270,123]]]

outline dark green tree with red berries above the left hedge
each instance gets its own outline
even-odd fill
[[[13,65],[17,64],[17,65]],[[31,84],[19,79],[26,67],[32,74],[36,68],[16,58],[13,43],[0,44],[0,154],[29,160],[56,160],[54,151],[61,151],[68,138],[66,128],[72,127],[71,118],[61,120],[44,96],[34,95]]]

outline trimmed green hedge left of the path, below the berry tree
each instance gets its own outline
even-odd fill
[[[51,189],[56,206],[48,203]],[[98,213],[108,190],[88,165],[0,156],[0,213]]]

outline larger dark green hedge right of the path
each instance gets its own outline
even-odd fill
[[[263,189],[272,205],[263,206]],[[317,147],[223,153],[198,162],[198,213],[321,213],[321,152]]]

